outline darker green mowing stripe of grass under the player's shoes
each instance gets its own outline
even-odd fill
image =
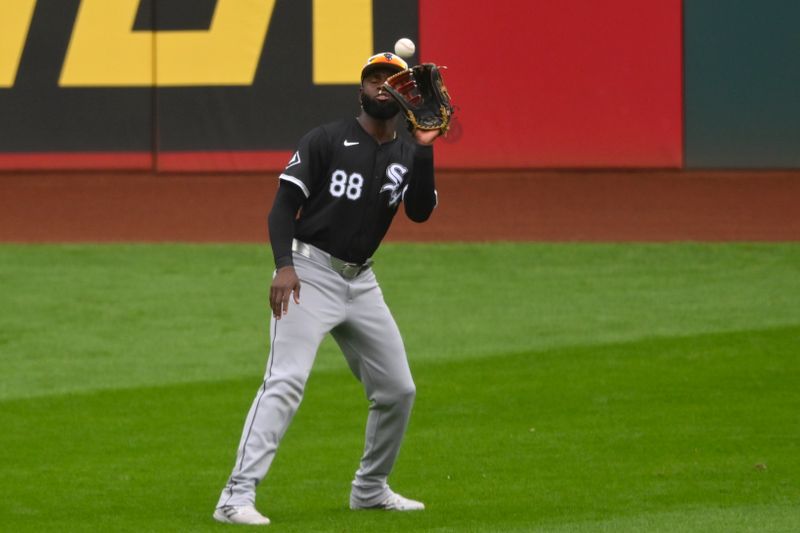
[[[790,531],[799,343],[783,327],[420,361],[390,481],[428,509],[403,515],[346,509],[368,404],[346,368],[313,373],[259,506],[298,532]],[[0,403],[4,527],[217,531],[258,385]]]

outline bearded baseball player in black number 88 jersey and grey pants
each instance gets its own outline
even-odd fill
[[[425,507],[386,482],[415,386],[370,259],[401,204],[415,222],[427,220],[436,205],[432,144],[440,132],[417,130],[412,138],[398,137],[400,108],[382,87],[388,76],[407,68],[394,54],[370,57],[361,72],[359,115],[306,134],[280,175],[269,214],[276,268],[270,353],[214,512],[220,522],[269,524],[254,506],[256,485],[269,470],[329,332],[369,400],[350,508]]]

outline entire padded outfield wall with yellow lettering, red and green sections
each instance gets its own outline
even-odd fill
[[[400,36],[449,67],[441,168],[796,168],[800,56],[781,52],[798,15],[790,0],[3,0],[0,169],[280,169],[309,128],[358,112],[361,64]]]

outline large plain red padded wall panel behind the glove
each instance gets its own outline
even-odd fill
[[[419,9],[421,60],[459,107],[438,166],[681,166],[681,0]]]

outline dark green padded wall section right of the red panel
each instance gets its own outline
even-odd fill
[[[689,168],[800,168],[800,1],[684,0]]]

